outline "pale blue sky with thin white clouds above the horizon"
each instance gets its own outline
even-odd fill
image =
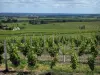
[[[0,12],[100,14],[100,0],[0,0]]]

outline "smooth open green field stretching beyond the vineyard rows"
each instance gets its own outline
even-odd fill
[[[100,22],[65,22],[65,23],[49,23],[32,25],[28,22],[21,23],[4,23],[9,27],[24,27],[19,31],[0,30],[0,38],[13,35],[39,35],[39,34],[91,34],[100,29]],[[85,29],[79,29],[79,26],[85,25]]]

